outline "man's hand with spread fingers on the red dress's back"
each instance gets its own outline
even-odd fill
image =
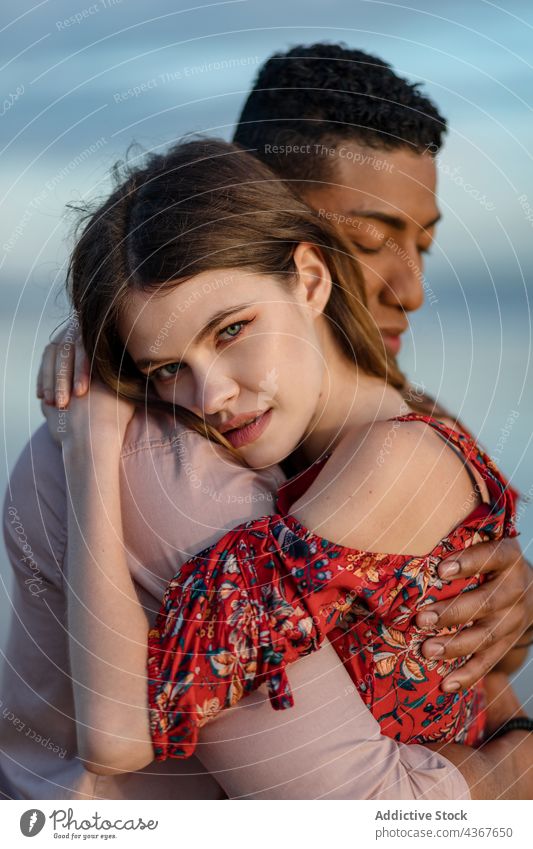
[[[470,687],[486,675],[520,642],[533,622],[533,570],[516,539],[474,545],[439,566],[439,575],[446,580],[478,573],[489,575],[481,587],[428,605],[416,618],[420,628],[473,623],[458,634],[431,637],[422,645],[425,657],[474,655],[443,679],[442,689],[448,692]],[[507,663],[506,671],[513,666],[516,668],[516,662]]]

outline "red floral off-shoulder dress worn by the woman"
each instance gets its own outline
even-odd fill
[[[149,633],[150,729],[155,757],[193,754],[202,725],[266,683],[275,709],[291,707],[287,664],[326,635],[384,734],[405,743],[478,744],[483,687],[443,693],[442,678],[465,658],[426,659],[436,633],[418,628],[427,604],[478,586],[481,576],[446,582],[437,567],[453,551],[514,536],[514,494],[474,440],[429,416],[482,476],[478,506],[427,555],[376,554],[312,533],[288,513],[327,458],[284,484],[277,513],[247,522],[189,560],[167,587]]]

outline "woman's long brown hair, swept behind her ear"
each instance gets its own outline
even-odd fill
[[[68,275],[85,349],[113,391],[172,408],[150,389],[120,341],[118,319],[132,291],[157,297],[177,281],[235,268],[290,286],[297,279],[293,254],[300,242],[320,249],[331,274],[324,314],[340,350],[365,373],[404,389],[368,311],[349,242],[266,165],[236,145],[200,139],[148,155],[140,167],[116,166],[115,180],[110,197],[82,222]],[[184,424],[239,456],[200,418],[173,409]]]

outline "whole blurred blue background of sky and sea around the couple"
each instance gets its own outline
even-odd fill
[[[229,138],[271,53],[329,40],[422,81],[449,119],[427,264],[437,300],[415,317],[402,365],[533,494],[529,0],[2,0],[0,17],[0,484],[40,421],[34,381],[63,315],[66,204],[105,194],[133,140],[152,150],[191,131]]]

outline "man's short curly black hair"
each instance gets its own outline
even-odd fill
[[[308,180],[331,173],[333,160],[320,154],[322,145],[355,142],[435,154],[445,132],[445,119],[418,83],[362,50],[319,42],[275,53],[265,62],[234,141],[282,176]],[[276,147],[282,152],[272,150]],[[288,148],[302,153],[288,156]]]

